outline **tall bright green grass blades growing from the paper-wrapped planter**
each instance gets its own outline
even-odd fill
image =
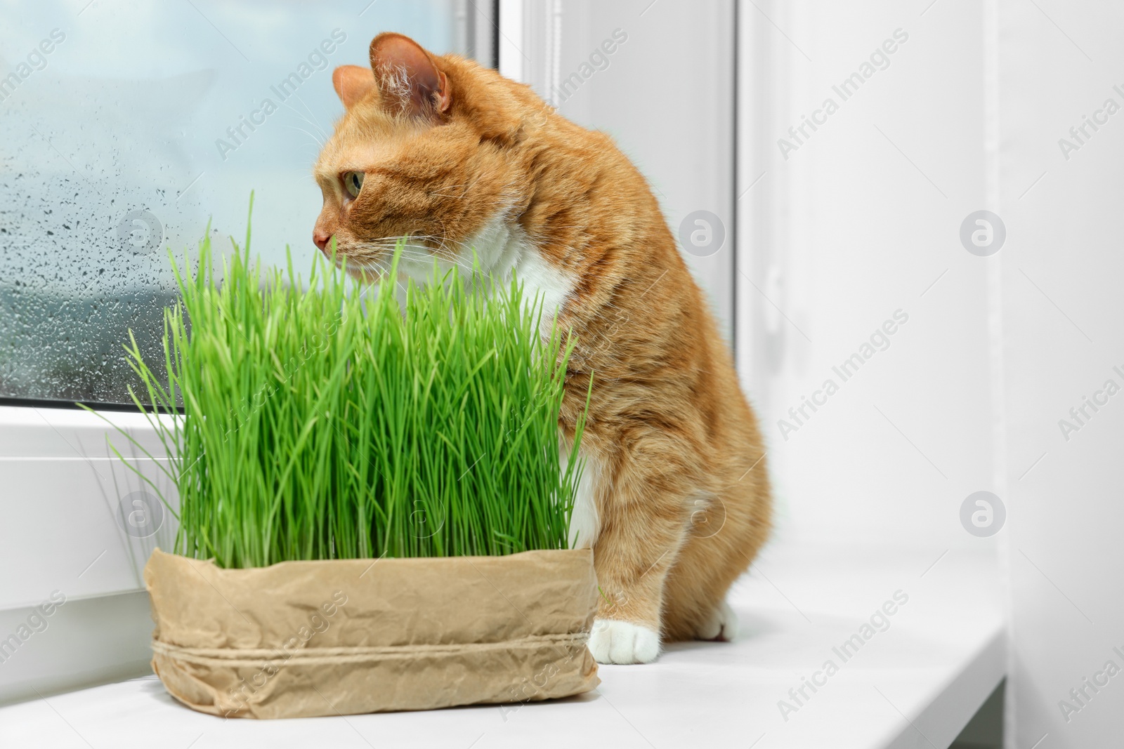
[[[541,303],[515,280],[435,270],[404,311],[319,256],[307,284],[291,256],[262,271],[248,228],[216,273],[209,237],[194,274],[172,258],[166,383],[126,346],[154,405],[129,394],[171,456],[178,554],[256,567],[566,548],[580,467],[560,456],[558,420],[573,344],[556,327],[543,339]]]

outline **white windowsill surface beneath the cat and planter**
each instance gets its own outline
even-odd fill
[[[654,665],[602,666],[595,693],[553,703],[224,721],[181,706],[147,677],[2,707],[0,745],[946,747],[1005,672],[988,548],[940,556],[777,542],[734,588],[735,642],[673,645]],[[909,601],[889,628],[842,663],[833,647],[899,590]],[[827,659],[839,673],[815,694],[806,688],[810,698],[786,721],[778,702]]]

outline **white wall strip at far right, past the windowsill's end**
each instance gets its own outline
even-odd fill
[[[1009,746],[1049,734],[1042,749],[1086,749],[1124,736],[1124,676],[1087,689],[1086,706],[1069,697],[1106,661],[1124,668],[1114,650],[1124,651],[1124,398],[1087,408],[1093,418],[1068,441],[1059,420],[1076,424],[1070,408],[1107,380],[1124,386],[1113,369],[1124,369],[1124,115],[1087,128],[1091,137],[1068,161],[1059,139],[1106,99],[1124,107],[1113,89],[1124,84],[1124,7],[1036,1],[998,3],[998,210],[1010,237],[997,256],[1009,426]],[[1080,712],[1067,721],[1061,700]]]

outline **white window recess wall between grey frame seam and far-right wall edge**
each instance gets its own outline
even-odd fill
[[[740,201],[738,362],[770,446],[779,540],[990,542],[959,520],[968,494],[994,488],[986,258],[958,238],[985,207],[981,15],[916,4],[746,12],[740,183],[763,176]],[[897,29],[907,40],[844,101],[832,86]],[[799,144],[788,128],[827,98],[839,110]],[[787,159],[781,138],[797,146]],[[833,367],[898,310],[908,321],[844,382]],[[827,380],[826,404],[789,415]]]

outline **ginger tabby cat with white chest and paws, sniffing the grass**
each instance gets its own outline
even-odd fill
[[[593,373],[571,522],[602,592],[590,650],[649,663],[661,641],[732,639],[726,591],[769,533],[764,450],[644,177],[493,70],[399,34],[370,53],[332,76],[345,112],[315,167],[317,247],[335,237],[352,272],[378,278],[409,235],[401,270],[418,280],[475,252],[543,294],[578,340],[563,441]]]

